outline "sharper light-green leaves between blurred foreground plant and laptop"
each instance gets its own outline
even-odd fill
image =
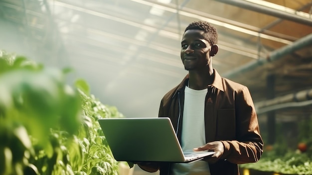
[[[82,87],[87,83],[80,79],[75,84]],[[98,119],[122,118],[124,116],[115,107],[103,105],[93,95],[88,96],[80,89],[79,92],[83,104],[83,125],[77,137],[85,157],[82,171],[88,175],[116,175],[118,174],[118,163],[112,156]]]

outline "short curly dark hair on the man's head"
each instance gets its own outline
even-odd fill
[[[210,45],[217,44],[217,42],[218,42],[217,29],[214,26],[212,26],[209,22],[202,21],[202,20],[191,22],[185,28],[184,32],[186,30],[190,30],[190,29],[203,30],[204,31],[204,39],[206,39]]]

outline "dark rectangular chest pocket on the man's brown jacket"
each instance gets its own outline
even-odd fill
[[[236,120],[234,109],[217,110],[217,139],[234,140],[236,135]]]

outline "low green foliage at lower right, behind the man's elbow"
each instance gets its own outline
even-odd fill
[[[289,148],[286,138],[278,138],[273,146],[265,146],[264,153],[257,163],[243,164],[240,168],[275,172],[285,175],[312,175],[312,119],[299,121],[299,143],[307,145],[302,152],[299,148]],[[269,149],[270,148],[270,149]]]

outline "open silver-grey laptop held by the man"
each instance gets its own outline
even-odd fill
[[[115,160],[190,163],[214,152],[183,153],[169,118],[98,120]]]

